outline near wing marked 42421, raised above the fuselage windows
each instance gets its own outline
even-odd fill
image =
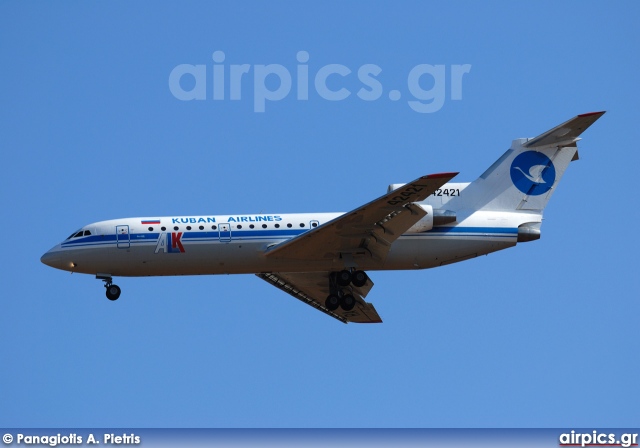
[[[267,257],[293,260],[372,258],[382,265],[391,244],[427,212],[425,200],[458,173],[422,176],[309,232],[271,247]]]

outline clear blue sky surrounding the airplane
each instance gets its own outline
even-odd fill
[[[378,5],[0,4],[0,426],[638,425],[638,3]],[[240,100],[228,83],[213,100],[215,51],[251,66]],[[205,100],[171,93],[180,64],[206,66]],[[268,64],[292,88],[259,113]],[[327,81],[348,98],[316,91],[328,64],[351,70]],[[365,64],[382,69],[377,100],[356,94]],[[420,64],[446,69],[432,113],[407,102]],[[471,65],[461,100],[456,64]],[[104,219],[347,211],[423,174],[471,181],[512,139],[597,110],[542,239],[373,272],[382,325],[343,325],[251,275],[122,278],[111,303],[39,260]]]

